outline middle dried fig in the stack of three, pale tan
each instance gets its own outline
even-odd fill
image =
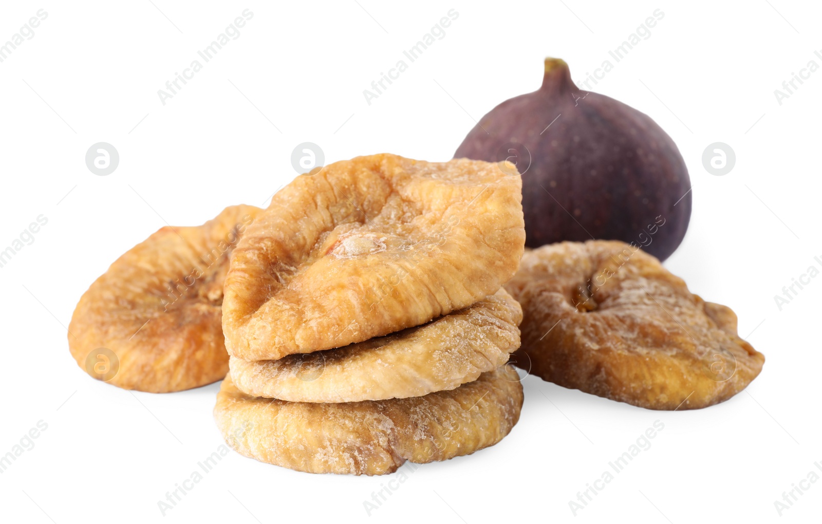
[[[504,290],[415,328],[278,361],[231,357],[243,393],[290,402],[421,397],[496,370],[520,347],[522,310]]]

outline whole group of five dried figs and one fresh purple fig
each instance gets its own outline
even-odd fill
[[[690,189],[649,117],[548,59],[543,87],[483,117],[457,156],[477,160],[333,163],[267,209],[160,229],[81,297],[72,356],[155,393],[225,377],[214,415],[239,453],[355,475],[503,439],[523,402],[513,352],[649,409],[707,407],[759,375],[733,311],[652,256],[679,245]],[[524,253],[526,231],[541,247]],[[542,246],[594,235],[632,242]]]

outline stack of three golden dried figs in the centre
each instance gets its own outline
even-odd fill
[[[279,191],[233,251],[215,419],[229,445],[380,475],[496,444],[522,406],[520,178],[391,154]]]

